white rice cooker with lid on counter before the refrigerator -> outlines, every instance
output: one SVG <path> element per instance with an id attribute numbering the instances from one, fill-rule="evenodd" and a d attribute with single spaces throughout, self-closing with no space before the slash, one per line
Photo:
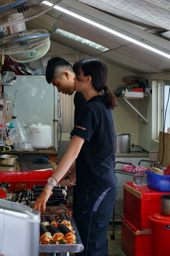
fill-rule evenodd
<path id="1" fill-rule="evenodd" d="M 52 145 L 52 131 L 50 125 L 37 125 L 28 126 L 30 142 L 33 148 L 50 148 Z"/>

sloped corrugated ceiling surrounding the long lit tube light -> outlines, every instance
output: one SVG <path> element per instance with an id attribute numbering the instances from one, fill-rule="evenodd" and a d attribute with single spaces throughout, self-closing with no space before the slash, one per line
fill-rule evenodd
<path id="1" fill-rule="evenodd" d="M 164 37 L 164 31 L 170 30 L 170 0 L 62 0 L 59 6 L 90 17 L 94 21 L 138 38 L 170 54 L 170 39 Z M 44 28 L 51 33 L 51 41 L 88 55 L 101 56 L 108 63 L 136 74 L 170 70 L 169 58 L 97 29 L 56 9 L 26 21 L 26 27 L 27 29 Z M 57 35 L 54 32 L 57 28 L 102 44 L 110 50 L 100 52 Z M 144 31 L 145 29 L 147 31 Z M 159 30 L 156 31 L 156 29 Z"/>

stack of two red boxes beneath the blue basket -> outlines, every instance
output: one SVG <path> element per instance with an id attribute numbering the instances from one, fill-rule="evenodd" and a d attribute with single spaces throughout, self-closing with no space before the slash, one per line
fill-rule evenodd
<path id="1" fill-rule="evenodd" d="M 124 183 L 121 242 L 122 250 L 127 256 L 157 256 L 152 254 L 148 217 L 155 212 L 161 212 L 160 196 L 165 194 L 170 195 L 170 192 L 156 191 L 147 185 L 135 185 L 133 182 Z"/>

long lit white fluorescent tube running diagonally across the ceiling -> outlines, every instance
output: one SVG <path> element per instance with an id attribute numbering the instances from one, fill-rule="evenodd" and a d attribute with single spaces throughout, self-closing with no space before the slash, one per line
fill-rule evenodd
<path id="1" fill-rule="evenodd" d="M 120 38 L 123 38 L 123 39 L 125 39 L 125 40 L 127 40 L 127 41 L 130 41 L 130 42 L 132 42 L 132 43 L 134 43 L 134 44 L 137 44 L 137 45 L 139 45 L 139 46 L 141 46 L 141 47 L 144 47 L 144 48 L 146 48 L 146 49 L 149 49 L 149 50 L 152 51 L 152 52 L 156 52 L 156 53 L 158 53 L 158 54 L 160 54 L 160 55 L 162 55 L 162 56 L 164 56 L 164 57 L 170 58 L 170 54 L 167 54 L 166 52 L 160 51 L 159 49 L 156 49 L 156 48 L 151 47 L 151 46 L 149 46 L 149 45 L 147 45 L 147 44 L 144 44 L 144 43 L 142 43 L 142 42 L 140 42 L 140 41 L 138 41 L 138 40 L 136 40 L 136 39 L 130 38 L 130 37 L 127 36 L 127 35 L 124 35 L 124 34 L 122 34 L 122 33 L 120 33 L 120 32 L 117 32 L 117 31 L 115 31 L 115 30 L 113 30 L 113 29 L 110 29 L 110 28 L 107 27 L 107 26 L 103 26 L 102 24 L 99 24 L 99 23 L 97 23 L 97 22 L 95 22 L 95 21 L 93 21 L 93 20 L 87 19 L 87 18 L 85 18 L 85 17 L 83 17 L 83 16 L 81 16 L 81 15 L 78 15 L 78 14 L 75 13 L 75 12 L 68 11 L 67 9 L 62 8 L 62 7 L 58 6 L 58 5 L 57 5 L 57 6 L 54 6 L 54 8 L 57 9 L 57 10 L 59 10 L 59 11 L 61 11 L 61 12 L 66 13 L 66 14 L 68 14 L 68 15 L 73 16 L 74 18 L 77 18 L 77 19 L 82 20 L 82 21 L 84 21 L 84 22 L 86 22 L 86 23 L 89 23 L 90 25 L 96 26 L 96 27 L 99 28 L 99 29 L 105 30 L 105 31 L 107 31 L 107 32 L 109 32 L 109 33 L 111 33 L 111 34 L 113 34 L 113 35 L 117 35 L 117 36 L 119 36 Z"/>

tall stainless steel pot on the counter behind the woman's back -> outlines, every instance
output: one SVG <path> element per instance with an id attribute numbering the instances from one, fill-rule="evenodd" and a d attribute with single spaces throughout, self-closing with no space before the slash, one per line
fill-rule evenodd
<path id="1" fill-rule="evenodd" d="M 132 134 L 115 134 L 114 150 L 115 153 L 130 153 L 130 136 Z"/>

